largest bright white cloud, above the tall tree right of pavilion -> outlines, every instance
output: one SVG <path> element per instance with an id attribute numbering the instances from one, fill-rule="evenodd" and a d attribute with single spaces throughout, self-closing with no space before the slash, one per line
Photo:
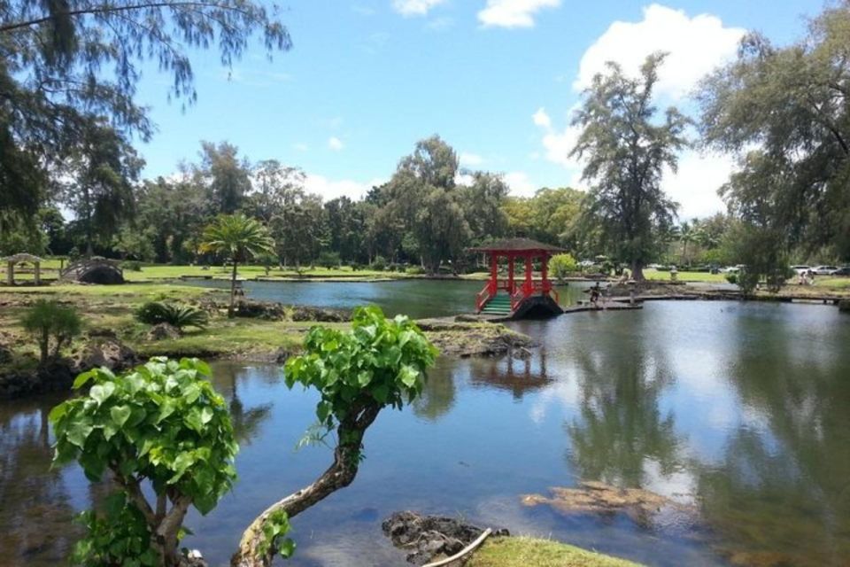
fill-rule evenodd
<path id="1" fill-rule="evenodd" d="M 644 19 L 615 21 L 599 36 L 584 52 L 573 87 L 590 86 L 593 75 L 604 72 L 607 61 L 616 61 L 626 73 L 637 74 L 647 55 L 666 51 L 669 55 L 659 71 L 656 92 L 682 98 L 715 66 L 735 56 L 745 34 L 746 29 L 724 27 L 723 21 L 711 14 L 689 18 L 683 10 L 651 4 L 644 8 Z"/>

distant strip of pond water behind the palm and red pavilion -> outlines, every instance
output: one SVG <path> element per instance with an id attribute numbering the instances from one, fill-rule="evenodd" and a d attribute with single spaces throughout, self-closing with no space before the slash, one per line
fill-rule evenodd
<path id="1" fill-rule="evenodd" d="M 189 280 L 187 285 L 230 289 L 224 280 Z M 586 299 L 584 290 L 591 282 L 559 285 L 561 305 L 574 305 Z M 277 301 L 287 305 L 336 307 L 350 309 L 376 304 L 388 315 L 404 313 L 411 317 L 440 317 L 469 313 L 475 310 L 475 294 L 484 282 L 464 280 L 397 280 L 392 282 L 243 282 L 245 294 L 251 299 Z"/>

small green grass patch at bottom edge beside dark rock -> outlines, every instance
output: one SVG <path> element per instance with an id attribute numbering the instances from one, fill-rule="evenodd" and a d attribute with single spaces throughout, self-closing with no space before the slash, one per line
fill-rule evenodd
<path id="1" fill-rule="evenodd" d="M 639 567 L 625 559 L 575 548 L 553 540 L 491 538 L 467 567 Z"/>

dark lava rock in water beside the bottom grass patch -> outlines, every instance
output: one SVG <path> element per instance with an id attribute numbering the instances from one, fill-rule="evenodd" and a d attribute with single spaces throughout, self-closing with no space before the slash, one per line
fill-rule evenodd
<path id="1" fill-rule="evenodd" d="M 381 528 L 393 545 L 409 551 L 407 562 L 414 565 L 430 563 L 439 555 L 454 555 L 484 531 L 450 517 L 420 516 L 410 511 L 396 512 L 383 521 Z M 510 534 L 498 530 L 493 535 Z"/>

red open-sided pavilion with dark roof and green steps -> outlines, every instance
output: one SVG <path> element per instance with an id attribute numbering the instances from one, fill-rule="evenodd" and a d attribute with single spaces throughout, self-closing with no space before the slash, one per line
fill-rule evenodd
<path id="1" fill-rule="evenodd" d="M 560 315 L 558 292 L 549 281 L 549 259 L 563 252 L 558 246 L 545 245 L 530 238 L 507 238 L 470 248 L 490 257 L 490 280 L 475 298 L 475 312 L 502 315 L 511 319 L 530 316 Z M 507 260 L 507 277 L 499 277 L 499 260 Z M 515 274 L 516 260 L 522 260 L 522 279 Z M 540 262 L 540 279 L 534 278 L 534 262 Z"/>

